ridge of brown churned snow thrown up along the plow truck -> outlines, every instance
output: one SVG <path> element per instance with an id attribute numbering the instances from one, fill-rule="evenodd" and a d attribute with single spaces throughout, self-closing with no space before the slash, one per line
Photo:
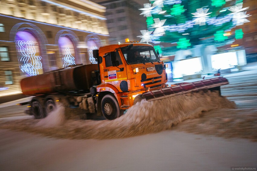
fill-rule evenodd
<path id="1" fill-rule="evenodd" d="M 45 119 L 1 121 L 0 128 L 58 138 L 125 138 L 168 130 L 186 119 L 198 118 L 204 111 L 221 108 L 232 109 L 236 105 L 218 92 L 200 91 L 150 102 L 142 100 L 115 120 L 65 120 L 63 107 L 59 106 Z"/>

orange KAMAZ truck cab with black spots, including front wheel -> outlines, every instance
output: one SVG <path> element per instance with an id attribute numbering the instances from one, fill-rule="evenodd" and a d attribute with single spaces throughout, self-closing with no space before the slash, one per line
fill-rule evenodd
<path id="1" fill-rule="evenodd" d="M 165 66 L 151 44 L 104 46 L 94 56 L 101 79 L 96 87 L 98 100 L 101 100 L 97 108 L 107 119 L 122 115 L 139 94 L 167 86 Z M 113 110 L 115 107 L 117 109 Z"/>

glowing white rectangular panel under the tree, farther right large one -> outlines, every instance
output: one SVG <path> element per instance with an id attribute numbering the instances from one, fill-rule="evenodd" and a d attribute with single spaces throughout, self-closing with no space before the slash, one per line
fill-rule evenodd
<path id="1" fill-rule="evenodd" d="M 236 52 L 211 55 L 213 70 L 234 68 L 238 65 Z"/>

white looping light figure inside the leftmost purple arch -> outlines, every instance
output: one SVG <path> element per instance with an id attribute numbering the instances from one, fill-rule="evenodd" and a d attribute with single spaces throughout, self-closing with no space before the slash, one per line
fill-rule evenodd
<path id="1" fill-rule="evenodd" d="M 23 64 L 20 66 L 22 72 L 26 72 L 30 76 L 38 75 L 38 69 L 42 69 L 41 56 L 35 56 L 36 49 L 34 48 L 33 41 L 18 40 L 16 42 L 18 52 L 21 55 L 20 62 Z"/>

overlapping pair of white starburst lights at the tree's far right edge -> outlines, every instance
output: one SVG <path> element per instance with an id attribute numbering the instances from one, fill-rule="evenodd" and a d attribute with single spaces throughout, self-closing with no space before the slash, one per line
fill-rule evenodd
<path id="1" fill-rule="evenodd" d="M 248 23 L 250 22 L 249 20 L 246 19 L 246 17 L 249 17 L 251 15 L 246 14 L 246 9 L 248 9 L 249 7 L 243 8 L 243 3 L 237 3 L 235 6 L 231 6 L 229 7 L 229 11 L 231 11 L 231 14 L 228 15 L 232 15 L 233 16 L 233 24 L 236 26 L 239 25 L 243 25 L 244 23 Z"/>

